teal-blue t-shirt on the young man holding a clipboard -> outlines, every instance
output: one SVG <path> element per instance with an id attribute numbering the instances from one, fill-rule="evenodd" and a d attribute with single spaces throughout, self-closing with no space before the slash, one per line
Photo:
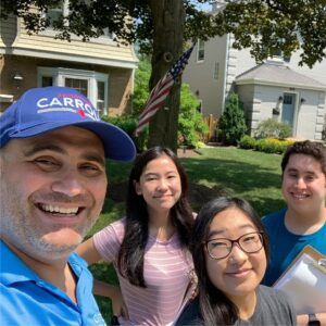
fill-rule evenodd
<path id="1" fill-rule="evenodd" d="M 294 235 L 285 226 L 286 212 L 283 209 L 262 218 L 271 244 L 271 259 L 262 280 L 266 286 L 273 286 L 305 246 L 326 254 L 326 223 L 314 234 Z"/>

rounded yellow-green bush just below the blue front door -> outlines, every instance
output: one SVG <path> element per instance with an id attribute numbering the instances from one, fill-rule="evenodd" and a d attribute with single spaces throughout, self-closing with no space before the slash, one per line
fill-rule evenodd
<path id="1" fill-rule="evenodd" d="M 292 128 L 288 123 L 278 122 L 269 117 L 259 123 L 254 136 L 256 138 L 285 139 L 292 135 Z"/>

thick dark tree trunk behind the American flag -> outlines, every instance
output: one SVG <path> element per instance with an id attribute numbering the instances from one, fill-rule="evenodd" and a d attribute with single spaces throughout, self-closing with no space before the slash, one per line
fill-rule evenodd
<path id="1" fill-rule="evenodd" d="M 185 9 L 183 0 L 149 0 L 153 18 L 153 54 L 150 90 L 183 52 Z M 180 83 L 175 83 L 165 103 L 151 118 L 148 147 L 177 150 Z"/>

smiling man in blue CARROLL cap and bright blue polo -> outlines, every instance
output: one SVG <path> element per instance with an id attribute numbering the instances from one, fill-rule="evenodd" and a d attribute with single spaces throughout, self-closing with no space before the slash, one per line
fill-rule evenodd
<path id="1" fill-rule="evenodd" d="M 0 126 L 0 325 L 103 325 L 72 252 L 102 209 L 105 158 L 133 160 L 131 139 L 64 87 L 26 91 Z"/>

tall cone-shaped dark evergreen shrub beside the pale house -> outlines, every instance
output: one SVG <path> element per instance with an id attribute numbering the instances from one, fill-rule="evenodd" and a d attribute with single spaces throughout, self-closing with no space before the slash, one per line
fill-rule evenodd
<path id="1" fill-rule="evenodd" d="M 218 121 L 217 135 L 225 145 L 237 145 L 247 131 L 242 104 L 236 93 L 231 93 Z"/>

